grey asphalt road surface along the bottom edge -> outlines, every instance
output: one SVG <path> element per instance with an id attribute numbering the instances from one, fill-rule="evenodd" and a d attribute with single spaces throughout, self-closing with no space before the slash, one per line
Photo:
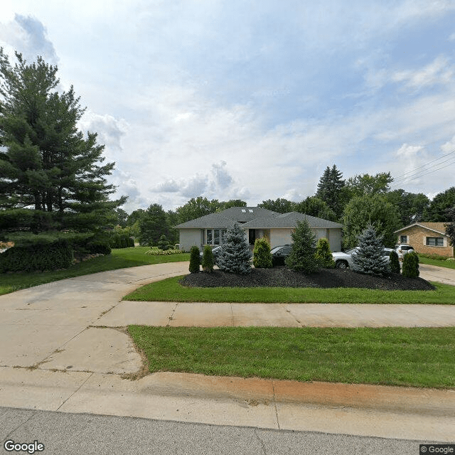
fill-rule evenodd
<path id="1" fill-rule="evenodd" d="M 419 454 L 424 441 L 288 432 L 163 420 L 68 414 L 0 407 L 1 450 L 5 441 L 44 444 L 36 454 L 292 455 Z M 428 443 L 428 441 L 426 441 Z"/>

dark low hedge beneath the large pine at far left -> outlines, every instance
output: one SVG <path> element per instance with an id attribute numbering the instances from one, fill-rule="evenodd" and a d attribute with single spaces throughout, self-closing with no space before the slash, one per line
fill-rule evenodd
<path id="1" fill-rule="evenodd" d="M 67 240 L 41 239 L 28 245 L 17 245 L 0 255 L 0 273 L 35 272 L 66 269 L 73 262 L 73 249 Z"/>

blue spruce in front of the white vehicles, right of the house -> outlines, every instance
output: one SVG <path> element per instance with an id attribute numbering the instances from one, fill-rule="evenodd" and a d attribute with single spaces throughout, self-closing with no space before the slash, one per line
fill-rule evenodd
<path id="1" fill-rule="evenodd" d="M 358 245 L 357 252 L 352 255 L 355 272 L 378 276 L 390 274 L 390 264 L 382 255 L 382 236 L 376 234 L 373 225 L 368 225 L 358 236 Z"/>

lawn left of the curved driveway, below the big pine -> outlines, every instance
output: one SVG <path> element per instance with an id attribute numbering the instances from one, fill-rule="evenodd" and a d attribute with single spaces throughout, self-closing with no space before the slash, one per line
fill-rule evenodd
<path id="1" fill-rule="evenodd" d="M 149 247 L 112 250 L 111 255 L 95 257 L 95 259 L 90 261 L 80 262 L 80 264 L 75 264 L 68 269 L 55 272 L 0 274 L 0 295 L 26 287 L 37 286 L 38 284 L 55 282 L 59 279 L 80 277 L 81 275 L 105 272 L 106 270 L 124 269 L 125 267 L 136 267 L 146 264 L 161 264 L 163 262 L 188 261 L 190 259 L 188 253 L 168 256 L 144 255 L 147 250 L 149 250 Z"/>

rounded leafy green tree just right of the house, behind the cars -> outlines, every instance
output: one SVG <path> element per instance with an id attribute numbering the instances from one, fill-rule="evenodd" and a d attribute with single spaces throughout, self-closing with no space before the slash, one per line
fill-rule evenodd
<path id="1" fill-rule="evenodd" d="M 346 249 L 357 246 L 358 236 L 368 225 L 373 225 L 383 237 L 386 247 L 396 242 L 394 233 L 400 227 L 397 209 L 384 196 L 355 196 L 343 212 L 343 245 Z"/>

